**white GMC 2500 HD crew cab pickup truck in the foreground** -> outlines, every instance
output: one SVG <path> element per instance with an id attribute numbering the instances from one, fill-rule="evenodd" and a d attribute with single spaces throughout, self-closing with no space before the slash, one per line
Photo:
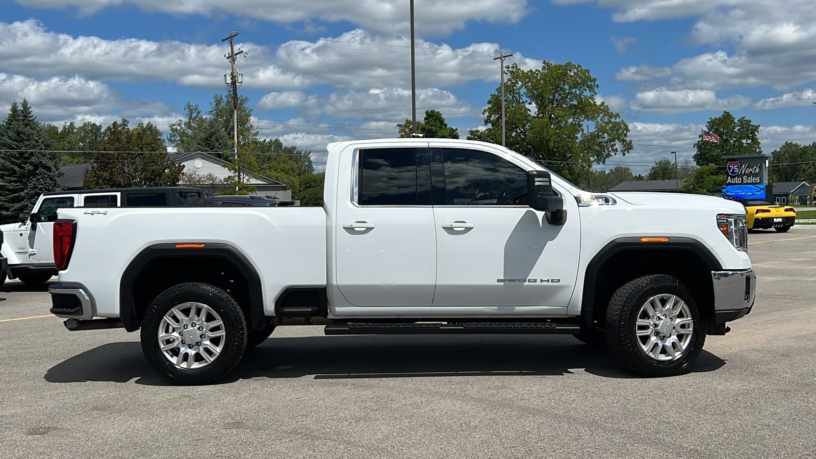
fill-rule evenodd
<path id="1" fill-rule="evenodd" d="M 468 140 L 328 152 L 322 207 L 60 208 L 51 312 L 70 330 L 141 328 L 157 372 L 205 384 L 294 324 L 566 333 L 669 376 L 752 308 L 738 203 L 589 194 Z"/>

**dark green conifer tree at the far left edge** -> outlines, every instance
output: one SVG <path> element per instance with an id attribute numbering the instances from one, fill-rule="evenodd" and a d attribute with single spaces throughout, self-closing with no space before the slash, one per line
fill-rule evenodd
<path id="1" fill-rule="evenodd" d="M 23 99 L 0 124 L 0 221 L 16 221 L 40 194 L 61 189 L 60 156 Z"/>

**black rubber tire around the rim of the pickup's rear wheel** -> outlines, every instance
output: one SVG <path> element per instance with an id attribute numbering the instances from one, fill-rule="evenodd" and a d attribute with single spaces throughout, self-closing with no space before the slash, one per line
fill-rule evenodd
<path id="1" fill-rule="evenodd" d="M 209 306 L 224 323 L 225 342 L 220 354 L 206 367 L 186 369 L 171 363 L 158 343 L 162 319 L 176 305 L 197 302 Z M 241 361 L 246 351 L 246 321 L 241 307 L 227 292 L 206 283 L 182 283 L 157 296 L 141 323 L 144 357 L 162 377 L 174 384 L 212 384 L 226 376 Z"/>

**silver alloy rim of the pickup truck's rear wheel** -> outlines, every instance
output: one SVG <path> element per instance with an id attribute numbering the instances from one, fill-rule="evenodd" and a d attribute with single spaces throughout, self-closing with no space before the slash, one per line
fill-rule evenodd
<path id="1" fill-rule="evenodd" d="M 194 370 L 218 358 L 226 343 L 224 322 L 210 306 L 188 302 L 167 311 L 158 328 L 158 345 L 177 368 Z"/>

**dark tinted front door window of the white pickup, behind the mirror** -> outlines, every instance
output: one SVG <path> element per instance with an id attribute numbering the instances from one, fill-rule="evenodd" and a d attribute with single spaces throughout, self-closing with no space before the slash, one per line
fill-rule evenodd
<path id="1" fill-rule="evenodd" d="M 448 205 L 527 203 L 527 172 L 503 158 L 475 149 L 442 149 L 442 163 Z"/>

